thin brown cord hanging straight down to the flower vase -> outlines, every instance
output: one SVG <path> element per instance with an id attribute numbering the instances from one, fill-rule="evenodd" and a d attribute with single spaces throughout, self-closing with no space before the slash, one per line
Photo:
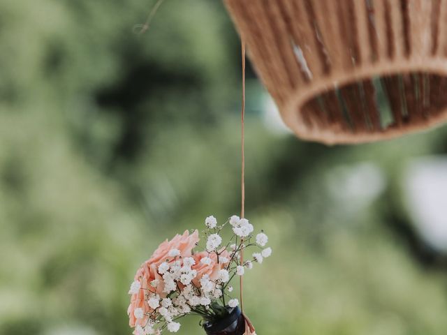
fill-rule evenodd
<path id="1" fill-rule="evenodd" d="M 242 158 L 242 166 L 241 166 L 241 209 L 240 216 L 244 218 L 245 215 L 245 154 L 244 154 L 244 116 L 245 116 L 245 42 L 242 39 L 242 108 L 241 108 L 241 158 Z M 244 239 L 242 238 L 241 244 L 244 243 Z M 244 248 L 240 251 L 240 264 L 244 266 Z M 243 276 L 240 276 L 240 309 L 244 311 L 244 297 L 243 297 Z"/>

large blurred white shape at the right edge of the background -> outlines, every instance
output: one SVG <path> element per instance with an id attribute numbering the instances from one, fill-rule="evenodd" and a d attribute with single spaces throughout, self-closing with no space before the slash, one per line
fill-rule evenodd
<path id="1" fill-rule="evenodd" d="M 447 158 L 412 161 L 404 175 L 409 213 L 433 248 L 447 251 Z"/>

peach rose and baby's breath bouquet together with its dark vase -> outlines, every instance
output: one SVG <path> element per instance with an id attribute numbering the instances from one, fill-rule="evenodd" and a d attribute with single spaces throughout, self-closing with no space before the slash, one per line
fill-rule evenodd
<path id="1" fill-rule="evenodd" d="M 255 334 L 239 301 L 231 297 L 231 282 L 271 255 L 272 249 L 265 248 L 268 237 L 263 232 L 254 237 L 253 225 L 238 216 L 231 216 L 223 225 L 209 216 L 205 225 L 204 251 L 194 250 L 198 247 L 198 231 L 186 231 L 160 244 L 138 269 L 129 290 L 131 304 L 127 311 L 134 335 L 160 335 L 165 329 L 177 332 L 177 320 L 186 315 L 202 318 L 208 335 Z M 228 225 L 232 236 L 223 243 L 221 232 Z M 258 250 L 243 260 L 249 248 Z"/>

